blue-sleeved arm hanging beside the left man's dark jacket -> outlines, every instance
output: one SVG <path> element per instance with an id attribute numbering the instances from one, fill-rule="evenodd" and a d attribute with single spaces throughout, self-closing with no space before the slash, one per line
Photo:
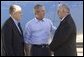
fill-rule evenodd
<path id="1" fill-rule="evenodd" d="M 24 31 L 24 52 L 25 56 L 30 56 L 30 39 L 31 36 L 31 30 L 29 28 L 29 25 L 26 24 L 25 31 Z"/>

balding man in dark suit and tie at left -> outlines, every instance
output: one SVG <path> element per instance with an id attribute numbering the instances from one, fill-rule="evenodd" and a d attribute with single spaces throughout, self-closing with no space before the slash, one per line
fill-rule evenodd
<path id="1" fill-rule="evenodd" d="M 9 9 L 10 18 L 4 23 L 1 31 L 2 56 L 23 56 L 24 40 L 19 23 L 21 7 L 12 5 Z"/>

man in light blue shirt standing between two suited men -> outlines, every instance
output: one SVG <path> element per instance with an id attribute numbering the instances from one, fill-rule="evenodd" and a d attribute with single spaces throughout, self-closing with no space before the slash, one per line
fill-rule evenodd
<path id="1" fill-rule="evenodd" d="M 49 19 L 44 18 L 44 6 L 37 4 L 34 10 L 36 18 L 25 26 L 25 43 L 31 45 L 31 56 L 51 56 L 48 45 L 52 40 L 51 33 L 55 31 L 55 27 Z"/>

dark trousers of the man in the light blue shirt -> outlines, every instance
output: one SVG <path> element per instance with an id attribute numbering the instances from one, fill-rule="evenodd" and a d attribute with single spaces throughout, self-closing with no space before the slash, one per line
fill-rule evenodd
<path id="1" fill-rule="evenodd" d="M 48 46 L 32 45 L 31 56 L 51 56 Z"/>

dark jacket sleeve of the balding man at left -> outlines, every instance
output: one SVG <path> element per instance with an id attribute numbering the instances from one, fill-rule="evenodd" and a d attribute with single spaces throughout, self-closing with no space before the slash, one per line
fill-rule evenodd
<path id="1" fill-rule="evenodd" d="M 14 56 L 14 51 L 12 48 L 12 29 L 11 27 L 5 25 L 2 28 L 2 35 L 4 41 L 4 48 L 8 56 Z"/>

